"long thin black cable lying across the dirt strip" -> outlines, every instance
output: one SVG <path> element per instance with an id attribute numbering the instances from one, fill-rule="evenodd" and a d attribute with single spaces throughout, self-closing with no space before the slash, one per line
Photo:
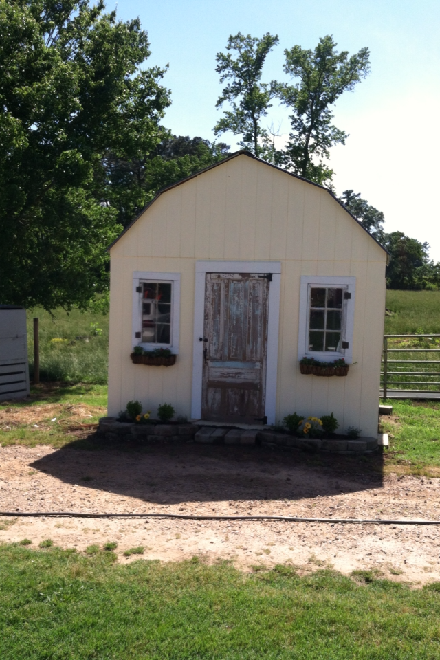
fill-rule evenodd
<path id="1" fill-rule="evenodd" d="M 181 520 L 278 520 L 278 522 L 340 522 L 346 525 L 440 525 L 440 520 L 362 520 L 358 518 L 294 518 L 293 516 L 189 516 L 187 514 L 83 514 L 72 511 L 0 511 L 10 518 L 178 518 Z"/>

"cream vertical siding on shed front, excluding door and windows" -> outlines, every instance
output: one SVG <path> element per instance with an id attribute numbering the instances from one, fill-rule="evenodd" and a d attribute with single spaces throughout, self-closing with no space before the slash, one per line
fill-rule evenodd
<path id="1" fill-rule="evenodd" d="M 386 252 L 325 189 L 238 155 L 166 190 L 111 248 L 109 415 L 139 399 L 190 417 L 195 262 L 281 262 L 276 420 L 333 412 L 341 430 L 377 434 Z M 133 272 L 181 273 L 175 366 L 131 363 Z M 301 375 L 300 276 L 355 276 L 353 366 L 347 377 Z"/>

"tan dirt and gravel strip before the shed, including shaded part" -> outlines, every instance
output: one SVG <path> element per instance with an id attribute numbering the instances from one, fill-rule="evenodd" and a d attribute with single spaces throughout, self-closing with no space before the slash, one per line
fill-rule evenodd
<path id="1" fill-rule="evenodd" d="M 243 570 L 288 562 L 305 570 L 373 569 L 413 584 L 440 580 L 440 526 L 270 521 L 23 518 L 23 511 L 274 514 L 440 520 L 440 480 L 362 472 L 319 454 L 263 448 L 156 445 L 139 450 L 0 448 L 0 542 L 51 538 L 85 550 L 118 542 L 143 558 L 233 560 Z"/>

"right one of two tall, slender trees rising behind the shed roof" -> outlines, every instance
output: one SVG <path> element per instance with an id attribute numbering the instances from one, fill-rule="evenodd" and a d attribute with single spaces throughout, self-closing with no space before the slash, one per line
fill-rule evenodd
<path id="1" fill-rule="evenodd" d="M 284 70 L 298 83 L 280 86 L 280 98 L 292 114 L 292 132 L 278 162 L 296 174 L 331 184 L 333 170 L 328 159 L 334 144 L 345 144 L 347 133 L 334 126 L 331 107 L 344 91 L 351 91 L 370 70 L 369 49 L 362 48 L 349 57 L 348 51 L 338 52 L 332 36 L 319 40 L 315 50 L 296 45 L 285 50 Z"/>

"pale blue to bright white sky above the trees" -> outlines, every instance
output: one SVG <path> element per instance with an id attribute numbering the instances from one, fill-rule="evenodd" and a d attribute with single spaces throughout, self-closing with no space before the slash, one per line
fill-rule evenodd
<path id="1" fill-rule="evenodd" d="M 314 49 L 326 34 L 350 55 L 369 47 L 371 74 L 334 107 L 333 122 L 349 137 L 331 150 L 333 184 L 338 194 L 360 192 L 384 212 L 387 232 L 428 242 L 430 258 L 440 261 L 439 0 L 107 0 L 107 9 L 115 6 L 120 19 L 138 16 L 148 32 L 145 66 L 169 65 L 164 85 L 173 103 L 164 125 L 211 141 L 221 117 L 215 56 L 230 34 L 278 34 L 263 82 L 289 80 L 284 50 Z M 289 133 L 287 115 L 275 103 L 267 117 L 281 140 Z M 236 151 L 239 137 L 217 140 Z"/>

